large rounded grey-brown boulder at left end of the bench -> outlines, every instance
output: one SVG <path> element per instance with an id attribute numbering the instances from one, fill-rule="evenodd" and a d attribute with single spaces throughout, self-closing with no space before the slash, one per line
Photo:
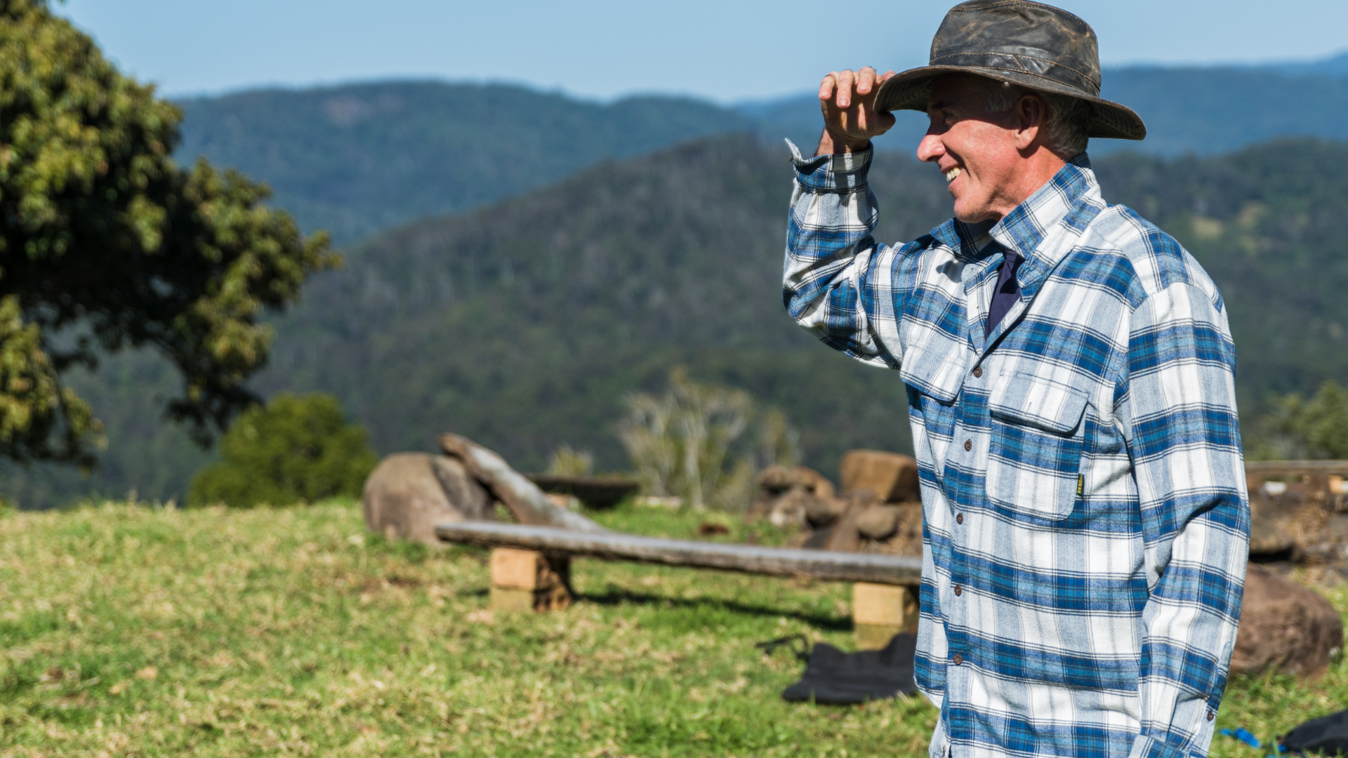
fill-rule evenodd
<path id="1" fill-rule="evenodd" d="M 492 498 L 449 456 L 394 453 L 379 463 L 361 498 L 365 526 L 390 540 L 439 545 L 435 525 L 495 521 Z"/>

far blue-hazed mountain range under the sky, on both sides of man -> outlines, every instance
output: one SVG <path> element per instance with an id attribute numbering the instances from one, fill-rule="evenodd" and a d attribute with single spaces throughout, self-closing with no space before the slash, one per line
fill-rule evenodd
<path id="1" fill-rule="evenodd" d="M 1103 140 L 1095 151 L 1215 154 L 1286 135 L 1348 139 L 1343 67 L 1335 58 L 1263 69 L 1109 69 L 1104 94 L 1142 113 L 1151 136 Z M 388 81 L 179 105 L 181 161 L 205 155 L 271 183 L 276 205 L 342 245 L 696 136 L 755 131 L 813 147 L 820 132 L 813 92 L 723 108 L 686 97 L 601 104 L 511 85 Z M 922 115 L 903 112 L 879 144 L 911 152 L 925 129 Z"/>

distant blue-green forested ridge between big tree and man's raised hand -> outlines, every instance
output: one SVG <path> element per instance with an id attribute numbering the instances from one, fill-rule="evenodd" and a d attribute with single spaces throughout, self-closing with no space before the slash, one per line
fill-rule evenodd
<path id="1" fill-rule="evenodd" d="M 751 128 L 685 97 L 611 104 L 512 85 L 388 81 L 181 100 L 177 155 L 268 182 L 338 244 L 706 134 Z"/>

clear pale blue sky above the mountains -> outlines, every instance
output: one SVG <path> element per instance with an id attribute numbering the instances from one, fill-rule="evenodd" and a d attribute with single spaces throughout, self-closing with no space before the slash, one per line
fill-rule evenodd
<path id="1" fill-rule="evenodd" d="M 926 62 L 950 3 L 783 0 L 69 0 L 57 12 L 167 94 L 391 77 L 524 82 L 589 97 L 718 101 L 807 90 L 833 67 Z M 1326 57 L 1344 0 L 1060 0 L 1105 65 Z"/>

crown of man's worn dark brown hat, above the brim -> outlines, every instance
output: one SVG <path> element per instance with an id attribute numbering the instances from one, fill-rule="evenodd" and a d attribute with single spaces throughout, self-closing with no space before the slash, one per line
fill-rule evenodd
<path id="1" fill-rule="evenodd" d="M 1027 0 L 969 0 L 946 12 L 931 39 L 933 66 L 1023 71 L 1100 94 L 1100 49 L 1091 24 Z"/>

